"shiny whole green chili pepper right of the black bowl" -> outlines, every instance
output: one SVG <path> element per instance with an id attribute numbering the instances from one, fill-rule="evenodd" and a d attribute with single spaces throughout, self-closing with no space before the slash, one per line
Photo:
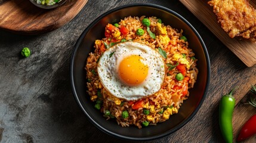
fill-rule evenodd
<path id="1" fill-rule="evenodd" d="M 232 116 L 235 107 L 235 98 L 232 94 L 234 90 L 235 88 L 233 88 L 229 94 L 224 95 L 221 98 L 219 105 L 220 130 L 224 141 L 227 143 L 233 142 Z"/>

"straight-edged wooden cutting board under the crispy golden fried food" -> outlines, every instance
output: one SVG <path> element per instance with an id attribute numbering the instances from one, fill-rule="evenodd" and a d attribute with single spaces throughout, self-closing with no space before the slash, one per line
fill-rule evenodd
<path id="1" fill-rule="evenodd" d="M 242 41 L 238 38 L 229 38 L 229 35 L 221 29 L 220 24 L 217 22 L 217 17 L 213 13 L 212 7 L 207 4 L 208 1 L 180 0 L 180 2 L 198 17 L 198 19 L 201 20 L 201 22 L 205 24 L 205 26 L 208 27 L 208 29 L 211 30 L 211 32 L 214 33 L 227 48 L 238 56 L 246 66 L 252 67 L 256 64 L 256 43 Z M 255 7 L 256 2 L 252 2 L 254 2 L 252 5 Z"/>

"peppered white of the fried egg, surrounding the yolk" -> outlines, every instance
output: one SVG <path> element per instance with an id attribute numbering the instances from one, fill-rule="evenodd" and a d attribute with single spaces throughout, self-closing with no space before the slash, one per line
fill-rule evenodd
<path id="1" fill-rule="evenodd" d="M 146 79 L 137 86 L 129 86 L 122 82 L 118 74 L 121 61 L 130 55 L 140 55 L 143 64 L 149 67 Z M 161 89 L 165 77 L 165 66 L 162 56 L 138 42 L 117 43 L 107 49 L 98 61 L 98 76 L 104 88 L 113 96 L 134 101 L 155 94 Z"/>

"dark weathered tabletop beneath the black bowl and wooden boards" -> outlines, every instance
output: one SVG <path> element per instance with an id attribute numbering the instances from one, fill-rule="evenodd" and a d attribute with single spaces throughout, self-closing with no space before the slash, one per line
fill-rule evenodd
<path id="1" fill-rule="evenodd" d="M 96 0 L 53 32 L 23 36 L 0 30 L 0 142 L 128 142 L 101 132 L 82 113 L 70 88 L 69 62 L 88 24 L 107 10 L 135 2 L 159 4 L 181 14 L 202 36 L 211 60 L 211 84 L 196 116 L 177 132 L 149 142 L 223 142 L 218 101 L 234 86 L 240 86 L 233 117 L 237 136 L 245 120 L 256 113 L 243 104 L 256 83 L 255 66 L 246 67 L 177 0 Z M 23 47 L 31 49 L 29 58 L 20 56 Z M 256 136 L 246 142 L 255 141 Z"/>

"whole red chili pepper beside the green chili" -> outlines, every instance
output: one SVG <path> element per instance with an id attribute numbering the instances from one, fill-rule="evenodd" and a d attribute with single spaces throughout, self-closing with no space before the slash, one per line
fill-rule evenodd
<path id="1" fill-rule="evenodd" d="M 256 134 L 256 114 L 243 125 L 236 141 L 240 142 Z"/>

